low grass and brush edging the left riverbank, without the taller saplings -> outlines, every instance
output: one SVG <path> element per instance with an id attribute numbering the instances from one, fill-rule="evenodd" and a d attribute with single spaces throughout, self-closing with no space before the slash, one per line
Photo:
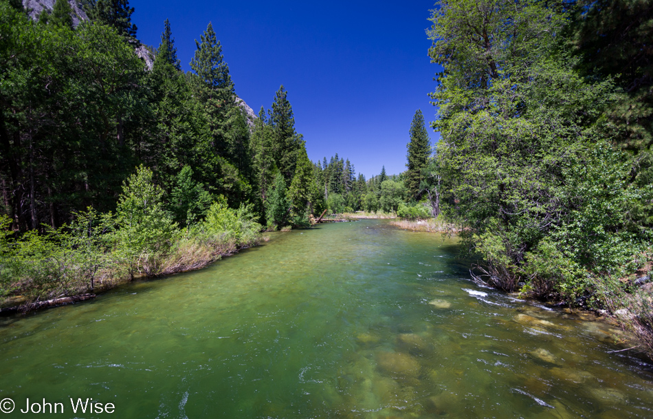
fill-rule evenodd
<path id="1" fill-rule="evenodd" d="M 232 215 L 230 228 L 203 222 L 175 230 L 165 250 L 129 247 L 118 232 L 83 237 L 90 246 L 79 246 L 80 237 L 63 229 L 5 241 L 0 255 L 0 308 L 20 305 L 28 311 L 40 301 L 104 292 L 135 278 L 197 270 L 258 244 L 260 226 L 239 219 L 236 211 Z"/>

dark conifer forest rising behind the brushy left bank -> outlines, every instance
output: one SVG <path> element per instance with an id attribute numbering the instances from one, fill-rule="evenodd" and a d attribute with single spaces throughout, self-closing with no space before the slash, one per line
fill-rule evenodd
<path id="1" fill-rule="evenodd" d="M 397 211 L 410 200 L 399 178 L 381 190 L 385 169 L 367 181 L 337 155 L 310 162 L 283 86 L 271 109 L 248 116 L 210 23 L 184 72 L 166 20 L 147 70 L 127 1 L 82 6 L 89 21 L 75 28 L 65 0 L 38 21 L 20 1 L 0 2 L 0 209 L 14 230 L 115 211 L 141 164 L 180 226 L 221 196 L 251 204 L 272 229 L 327 208 Z"/>

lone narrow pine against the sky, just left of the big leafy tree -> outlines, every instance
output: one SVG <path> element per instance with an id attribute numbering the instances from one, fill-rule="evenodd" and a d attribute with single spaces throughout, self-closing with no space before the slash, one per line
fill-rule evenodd
<path id="1" fill-rule="evenodd" d="M 410 197 L 419 200 L 422 192 L 419 184 L 423 180 L 423 170 L 428 164 L 428 158 L 431 154 L 431 146 L 428 140 L 428 132 L 424 124 L 424 116 L 422 111 L 417 109 L 415 116 L 410 123 L 410 142 L 406 145 L 408 147 L 408 163 L 406 167 L 406 189 Z"/>

